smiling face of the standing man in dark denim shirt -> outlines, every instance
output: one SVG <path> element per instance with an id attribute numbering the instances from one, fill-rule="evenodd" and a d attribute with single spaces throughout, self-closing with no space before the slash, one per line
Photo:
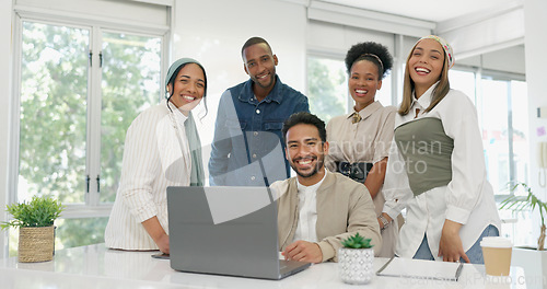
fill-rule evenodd
<path id="1" fill-rule="evenodd" d="M 277 57 L 265 43 L 252 45 L 243 50 L 245 72 L 251 77 L 255 86 L 270 91 L 276 84 Z"/>

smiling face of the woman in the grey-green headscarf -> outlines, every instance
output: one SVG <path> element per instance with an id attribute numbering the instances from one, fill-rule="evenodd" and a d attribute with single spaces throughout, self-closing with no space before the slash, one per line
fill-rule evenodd
<path id="1" fill-rule="evenodd" d="M 203 70 L 196 63 L 187 63 L 178 71 L 174 83 L 174 89 L 172 83 L 167 85 L 167 91 L 172 93 L 170 101 L 187 115 L 203 97 Z"/>

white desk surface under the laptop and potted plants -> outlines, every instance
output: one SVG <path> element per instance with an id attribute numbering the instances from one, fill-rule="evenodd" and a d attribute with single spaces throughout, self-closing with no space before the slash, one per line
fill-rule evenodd
<path id="1" fill-rule="evenodd" d="M 27 288 L 359 288 L 344 284 L 336 263 L 312 265 L 282 280 L 261 280 L 175 271 L 166 259 L 152 258 L 154 252 L 123 252 L 104 244 L 59 250 L 54 261 L 19 263 L 16 257 L 0 259 L 0 287 Z M 377 270 L 386 258 L 375 258 Z M 457 282 L 374 276 L 368 288 L 526 288 L 524 270 L 511 267 L 511 284 L 485 278 L 482 265 L 465 264 Z"/>

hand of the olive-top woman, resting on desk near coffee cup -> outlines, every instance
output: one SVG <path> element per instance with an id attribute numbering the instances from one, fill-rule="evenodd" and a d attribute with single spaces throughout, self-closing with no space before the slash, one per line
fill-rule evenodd
<path id="1" fill-rule="evenodd" d="M 461 228 L 462 224 L 458 222 L 444 221 L 441 242 L 439 243 L 439 256 L 443 256 L 444 262 L 459 262 L 459 258 L 463 258 L 465 262 L 470 263 L 459 238 Z"/>

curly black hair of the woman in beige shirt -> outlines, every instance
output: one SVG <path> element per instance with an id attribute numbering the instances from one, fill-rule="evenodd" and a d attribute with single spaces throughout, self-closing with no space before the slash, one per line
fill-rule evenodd
<path id="1" fill-rule="evenodd" d="M 379 80 L 385 78 L 393 66 L 393 57 L 387 47 L 375 42 L 358 43 L 351 46 L 346 54 L 345 62 L 346 68 L 348 69 L 348 74 L 350 73 L 353 63 L 363 59 L 376 65 L 380 78 Z"/>

